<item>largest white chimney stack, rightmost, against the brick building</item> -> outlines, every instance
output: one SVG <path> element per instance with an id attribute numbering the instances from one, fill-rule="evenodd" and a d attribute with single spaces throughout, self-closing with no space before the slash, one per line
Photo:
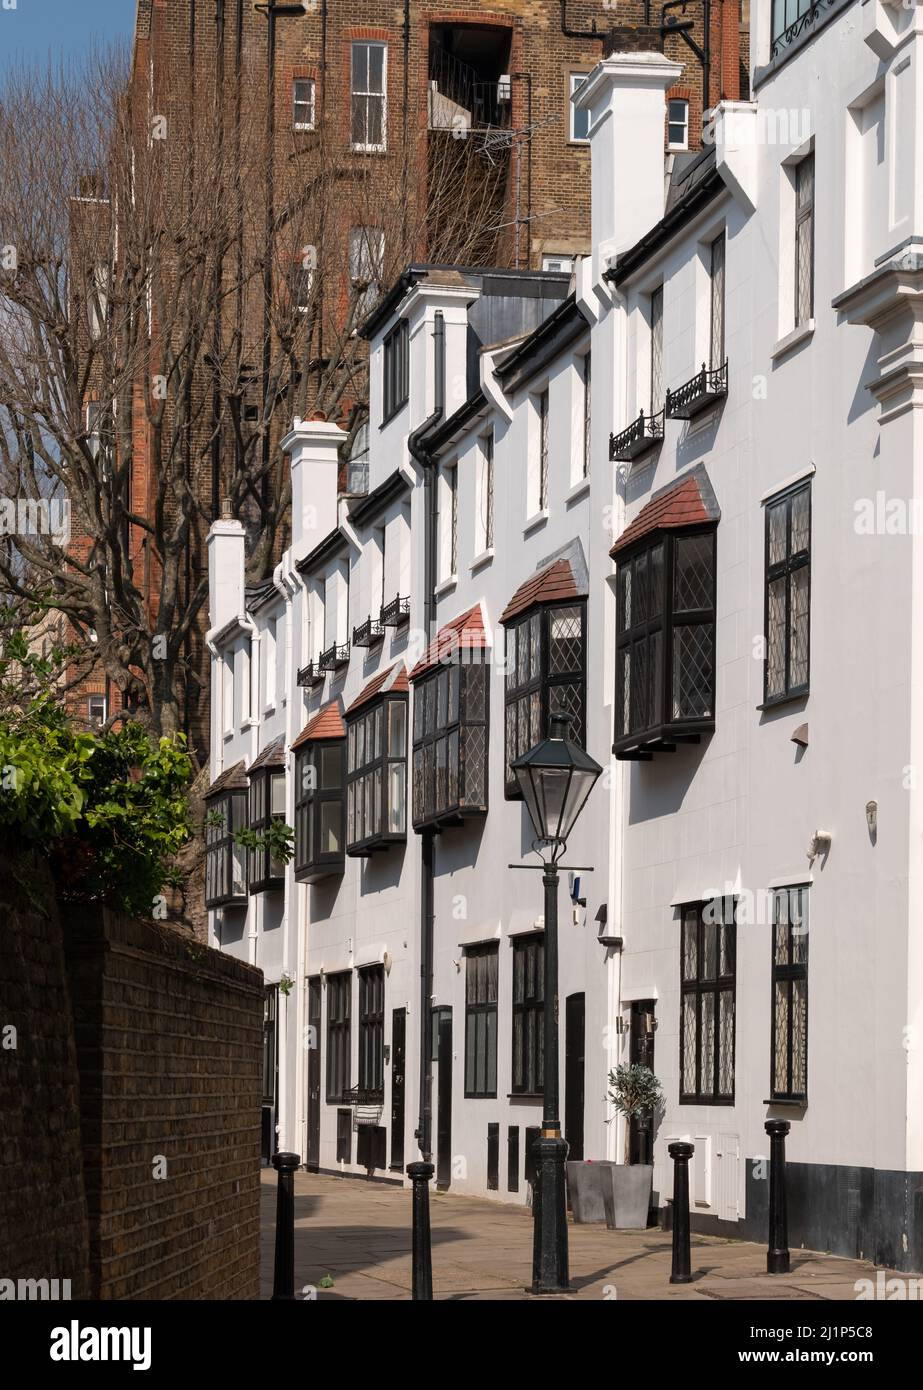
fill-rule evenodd
<path id="1" fill-rule="evenodd" d="M 589 111 L 595 281 L 663 217 L 666 93 L 681 74 L 662 53 L 613 53 L 574 93 Z"/>

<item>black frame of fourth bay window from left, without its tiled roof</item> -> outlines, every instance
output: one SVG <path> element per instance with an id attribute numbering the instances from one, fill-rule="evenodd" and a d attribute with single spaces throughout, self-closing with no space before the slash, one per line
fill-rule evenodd
<path id="1" fill-rule="evenodd" d="M 403 721 L 405 721 L 405 737 L 403 737 L 403 752 L 392 755 L 391 748 L 391 717 L 392 709 L 395 706 L 403 706 Z M 366 753 L 366 737 L 367 727 L 370 726 L 370 719 L 373 721 L 378 720 L 381 714 L 379 731 L 375 735 L 375 748 L 378 752 L 368 758 Z M 367 701 L 354 713 L 346 716 L 346 853 L 350 858 L 361 859 L 377 851 L 388 849 L 391 845 L 406 844 L 407 840 L 407 735 L 409 735 L 409 702 L 406 692 L 399 694 L 385 694 L 379 695 L 373 701 Z M 356 762 L 359 753 L 359 727 L 363 727 L 361 744 L 363 744 L 363 762 Z M 381 744 L 378 742 L 381 738 Z M 403 769 L 403 819 L 402 828 L 391 830 L 391 769 L 399 766 Z M 360 784 L 364 785 L 366 778 L 373 778 L 370 803 L 363 805 L 361 824 L 366 828 L 366 813 L 371 809 L 375 813 L 375 799 L 374 799 L 374 774 L 381 771 L 381 790 L 378 802 L 378 817 L 374 824 L 371 834 L 363 834 L 354 837 L 354 830 L 359 826 L 357 819 L 357 802 L 359 794 L 354 791 Z M 363 791 L 363 796 L 366 792 Z"/>

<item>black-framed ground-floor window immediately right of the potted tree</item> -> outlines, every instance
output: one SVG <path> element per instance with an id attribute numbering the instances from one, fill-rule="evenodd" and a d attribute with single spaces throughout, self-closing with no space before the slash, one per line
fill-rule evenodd
<path id="1" fill-rule="evenodd" d="M 695 974 L 687 973 L 687 930 L 689 917 L 695 929 Z M 727 919 L 731 919 L 730 922 Z M 712 959 L 714 973 L 706 973 L 706 933 L 714 931 Z M 726 934 L 724 952 L 721 934 Z M 730 970 L 721 970 L 721 962 L 730 960 Z M 731 1008 L 731 1065 L 730 1091 L 721 1091 L 721 997 L 730 995 Z M 696 1088 L 685 1087 L 685 1001 L 694 999 L 695 1009 L 695 1081 Z M 712 999 L 712 1086 L 702 1086 L 702 1020 L 706 1013 L 706 999 Z M 705 902 L 685 902 L 680 908 L 680 1105 L 734 1105 L 737 1087 L 737 899 L 714 898 Z"/>

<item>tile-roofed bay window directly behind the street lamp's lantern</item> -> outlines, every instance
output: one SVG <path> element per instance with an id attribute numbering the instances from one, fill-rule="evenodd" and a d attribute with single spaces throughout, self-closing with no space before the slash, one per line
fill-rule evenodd
<path id="1" fill-rule="evenodd" d="M 548 735 L 552 714 L 570 714 L 570 737 L 585 738 L 587 602 L 569 560 L 532 575 L 500 621 L 506 627 L 507 801 L 521 799 L 512 763 Z"/>

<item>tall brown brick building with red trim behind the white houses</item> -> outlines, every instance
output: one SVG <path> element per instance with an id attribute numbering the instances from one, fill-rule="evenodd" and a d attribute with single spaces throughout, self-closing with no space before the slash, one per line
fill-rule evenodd
<path id="1" fill-rule="evenodd" d="M 207 125 L 215 139 L 236 140 L 246 204 L 238 267 L 242 247 L 263 267 L 227 295 L 209 329 L 211 357 L 202 353 L 189 373 L 197 399 L 185 403 L 178 445 L 196 514 L 179 609 L 202 602 L 204 531 L 228 500 L 250 541 L 261 542 L 247 546 L 250 580 L 263 578 L 282 553 L 291 482 L 278 442 L 295 416 L 320 409 L 339 420 L 341 491 L 366 486 L 367 386 L 354 329 L 406 264 L 567 271 L 589 250 L 587 117 L 570 99 L 603 53 L 634 40 L 683 63 L 664 128 L 677 158 L 699 145 L 706 74 L 709 103 L 741 95 L 738 0 L 713 0 L 709 11 L 666 10 L 673 32 L 662 31 L 659 11 L 641 0 L 619 6 L 616 31 L 613 18 L 606 3 L 584 0 L 489 7 L 139 0 L 126 95 L 139 152 L 150 149 L 152 125 L 163 122 L 170 140 L 158 177 L 164 203 L 175 204 L 195 185 L 195 132 Z M 152 320 L 152 342 L 171 331 L 157 322 L 156 304 Z M 234 371 L 210 367 L 228 357 Z M 161 464 L 143 395 L 139 378 L 131 493 L 132 506 L 150 514 Z M 246 484 L 242 453 L 257 460 Z M 163 610 L 164 562 L 143 528 L 135 532 L 135 582 L 153 621 Z M 190 674 L 179 723 L 204 753 L 204 613 L 182 660 Z M 107 688 L 104 713 L 120 703 L 118 691 Z M 93 709 L 99 716 L 99 699 Z"/>

